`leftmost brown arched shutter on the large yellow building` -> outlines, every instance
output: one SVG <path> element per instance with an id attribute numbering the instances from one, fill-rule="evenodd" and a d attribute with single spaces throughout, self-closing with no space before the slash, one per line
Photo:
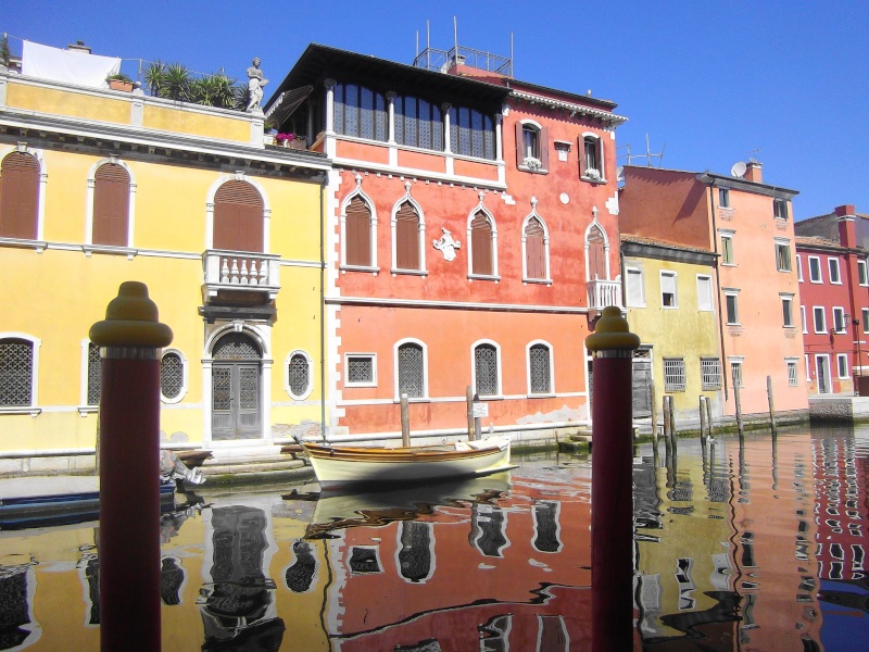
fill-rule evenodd
<path id="1" fill-rule="evenodd" d="M 39 162 L 12 152 L 0 166 L 0 236 L 35 240 L 39 221 Z"/>

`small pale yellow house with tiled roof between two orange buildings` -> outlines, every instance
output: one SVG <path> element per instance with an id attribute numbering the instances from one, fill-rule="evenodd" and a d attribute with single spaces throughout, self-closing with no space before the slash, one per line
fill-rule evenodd
<path id="1" fill-rule="evenodd" d="M 634 354 L 634 417 L 662 423 L 662 397 L 673 398 L 677 422 L 700 423 L 700 397 L 721 417 L 721 358 L 715 302 L 715 254 L 622 235 L 625 298 Z M 653 391 L 654 387 L 654 391 Z"/>

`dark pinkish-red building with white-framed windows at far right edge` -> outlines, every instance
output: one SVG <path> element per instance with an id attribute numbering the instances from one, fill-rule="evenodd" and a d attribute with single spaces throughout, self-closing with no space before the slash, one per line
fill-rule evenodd
<path id="1" fill-rule="evenodd" d="M 856 393 L 869 353 L 869 216 L 841 205 L 794 231 L 809 392 Z"/>

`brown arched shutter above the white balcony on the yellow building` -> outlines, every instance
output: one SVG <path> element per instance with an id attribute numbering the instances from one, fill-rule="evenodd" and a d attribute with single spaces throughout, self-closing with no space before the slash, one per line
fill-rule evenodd
<path id="1" fill-rule="evenodd" d="M 214 248 L 262 252 L 263 198 L 248 181 L 232 180 L 214 196 Z"/>

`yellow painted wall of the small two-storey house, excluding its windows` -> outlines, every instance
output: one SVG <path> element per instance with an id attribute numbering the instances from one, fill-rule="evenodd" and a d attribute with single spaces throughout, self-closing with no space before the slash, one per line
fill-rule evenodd
<path id="1" fill-rule="evenodd" d="M 685 391 L 672 392 L 677 418 L 697 418 L 701 394 L 720 404 L 720 391 L 703 391 L 701 356 L 719 358 L 718 323 L 715 311 L 697 308 L 697 275 L 710 276 L 715 301 L 715 276 L 711 267 L 693 263 L 660 261 L 651 258 L 626 256 L 625 267 L 643 271 L 645 308 L 628 306 L 628 323 L 643 344 L 652 344 L 652 368 L 656 408 L 662 413 L 664 391 L 664 359 L 683 358 Z M 664 308 L 660 297 L 660 272 L 676 272 L 678 308 Z M 717 310 L 717 305 L 715 306 Z M 722 369 L 725 368 L 722 361 Z M 713 415 L 720 415 L 720 408 Z"/>

